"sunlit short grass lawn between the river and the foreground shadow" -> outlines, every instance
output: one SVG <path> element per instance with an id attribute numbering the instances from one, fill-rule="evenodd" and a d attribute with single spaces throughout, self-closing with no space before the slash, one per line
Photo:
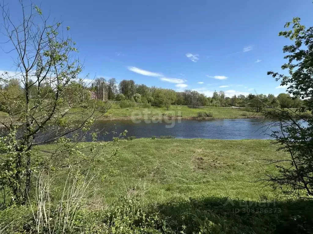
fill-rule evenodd
<path id="1" fill-rule="evenodd" d="M 95 182 L 109 203 L 127 194 L 148 203 L 202 195 L 251 201 L 277 198 L 271 188 L 251 182 L 264 173 L 258 158 L 285 156 L 267 140 L 142 138 L 118 144 L 116 172 L 112 175 L 103 168 L 108 177 Z M 110 150 L 105 148 L 98 156 L 106 158 Z"/>

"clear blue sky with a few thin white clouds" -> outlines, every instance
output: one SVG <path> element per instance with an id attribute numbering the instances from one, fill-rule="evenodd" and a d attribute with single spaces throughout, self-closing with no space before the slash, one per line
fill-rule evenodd
<path id="1" fill-rule="evenodd" d="M 290 44 L 278 32 L 295 16 L 313 23 L 311 0 L 33 2 L 70 26 L 84 75 L 209 96 L 284 92 L 266 75 L 280 71 L 282 47 Z M 12 6 L 11 16 L 18 10 Z M 11 57 L 0 51 L 0 70 L 14 71 Z"/>

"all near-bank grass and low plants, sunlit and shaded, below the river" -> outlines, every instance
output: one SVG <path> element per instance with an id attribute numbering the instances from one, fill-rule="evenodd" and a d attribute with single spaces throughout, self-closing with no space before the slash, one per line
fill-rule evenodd
<path id="1" fill-rule="evenodd" d="M 88 148 L 90 143 L 82 143 Z M 40 146 L 52 150 L 55 145 Z M 114 147 L 112 146 L 112 149 Z M 310 233 L 313 204 L 289 200 L 251 181 L 284 158 L 267 140 L 133 139 L 119 142 L 107 177 L 65 189 L 50 184 L 50 202 L 0 212 L 0 231 L 49 233 Z M 87 169 L 87 168 L 86 168 Z M 51 177 L 53 177 L 51 175 Z M 69 183 L 69 182 L 67 182 Z M 95 187 L 97 189 L 95 189 Z M 65 188 L 67 188 L 65 186 Z M 79 194 L 79 195 L 77 195 Z M 74 198 L 73 198 L 74 196 Z M 63 198 L 63 205 L 59 202 Z M 69 205 L 67 199 L 71 198 Z M 47 199 L 47 198 L 46 198 Z M 74 208 L 77 205 L 77 209 Z M 61 209 L 63 207 L 63 209 Z M 37 209 L 43 214 L 38 222 Z M 65 209 L 66 208 L 66 209 Z M 46 214 L 44 213 L 46 212 Z M 44 220 L 44 217 L 48 221 Z M 59 220 L 62 220 L 60 222 Z"/>

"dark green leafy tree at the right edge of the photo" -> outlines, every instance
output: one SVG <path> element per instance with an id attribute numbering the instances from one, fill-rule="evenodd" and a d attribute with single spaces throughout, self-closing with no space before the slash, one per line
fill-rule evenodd
<path id="1" fill-rule="evenodd" d="M 289 38 L 293 43 L 283 47 L 287 62 L 282 65 L 289 75 L 269 71 L 268 75 L 287 85 L 288 94 L 296 99 L 305 99 L 307 106 L 301 106 L 298 111 L 285 109 L 279 103 L 277 108 L 266 105 L 264 115 L 279 121 L 273 131 L 273 142 L 289 157 L 281 163 L 280 160 L 270 159 L 278 168 L 278 173 L 268 173 L 265 181 L 288 195 L 313 198 L 313 118 L 302 118 L 301 113 L 313 110 L 313 27 L 301 25 L 300 18 L 295 17 L 287 22 L 285 27 L 290 30 L 282 31 L 279 36 Z M 290 99 L 288 97 L 288 99 Z M 277 123 L 276 122 L 276 123 Z"/>

